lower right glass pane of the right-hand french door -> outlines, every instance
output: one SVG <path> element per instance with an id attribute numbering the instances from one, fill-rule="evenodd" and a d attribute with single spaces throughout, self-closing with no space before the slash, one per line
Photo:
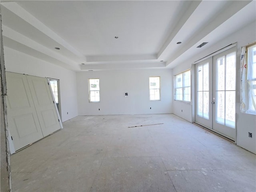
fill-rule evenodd
<path id="1" fill-rule="evenodd" d="M 235 128 L 236 91 L 226 91 L 226 126 Z"/>

